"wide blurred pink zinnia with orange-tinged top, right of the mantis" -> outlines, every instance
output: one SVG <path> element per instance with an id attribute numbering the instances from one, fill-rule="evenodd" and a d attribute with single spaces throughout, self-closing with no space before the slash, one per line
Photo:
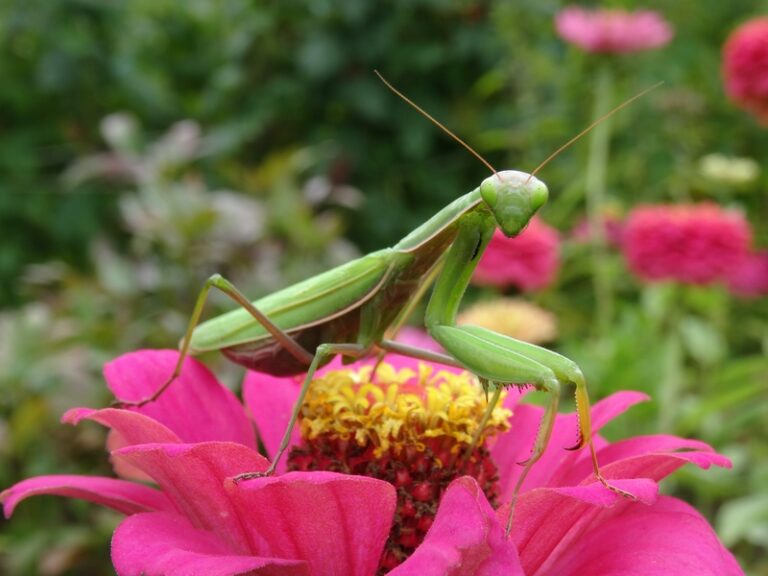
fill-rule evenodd
<path id="1" fill-rule="evenodd" d="M 708 284 L 741 265 L 751 238 L 741 214 L 716 204 L 641 206 L 627 220 L 622 248 L 643 280 Z"/>

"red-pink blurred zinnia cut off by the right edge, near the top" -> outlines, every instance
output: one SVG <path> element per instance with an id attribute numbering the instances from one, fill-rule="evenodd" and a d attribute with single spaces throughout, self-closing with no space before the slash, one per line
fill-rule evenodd
<path id="1" fill-rule="evenodd" d="M 723 76 L 731 100 L 768 123 L 768 18 L 750 20 L 730 35 Z"/>

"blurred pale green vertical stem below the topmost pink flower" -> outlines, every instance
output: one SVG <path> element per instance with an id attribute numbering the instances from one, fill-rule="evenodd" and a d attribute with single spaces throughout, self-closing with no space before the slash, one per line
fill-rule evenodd
<path id="1" fill-rule="evenodd" d="M 597 73 L 595 83 L 595 118 L 608 112 L 613 77 L 607 66 Z M 608 334 L 613 317 L 613 282 L 603 226 L 603 205 L 606 196 L 606 172 L 610 145 L 610 119 L 597 126 L 589 139 L 589 158 L 586 175 L 587 221 L 592 240 L 592 286 L 595 298 L 595 328 L 598 337 Z"/>

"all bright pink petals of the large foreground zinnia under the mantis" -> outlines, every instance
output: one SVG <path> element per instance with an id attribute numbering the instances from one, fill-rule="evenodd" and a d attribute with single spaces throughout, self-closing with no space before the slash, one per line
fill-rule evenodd
<path id="1" fill-rule="evenodd" d="M 118 398 L 143 397 L 164 381 L 177 357 L 175 351 L 127 354 L 107 365 L 107 383 Z M 326 377 L 335 376 L 326 372 Z M 246 405 L 270 451 L 297 393 L 292 378 L 255 373 L 246 378 Z M 394 401 L 390 396 L 387 406 Z M 518 404 L 519 398 L 513 392 L 505 400 L 506 408 L 514 409 L 513 431 L 497 436 L 489 448 L 502 501 L 520 474 L 516 462 L 530 453 L 541 418 L 540 408 Z M 644 398 L 626 392 L 598 402 L 592 411 L 595 429 Z M 365 416 L 340 416 L 351 420 L 355 414 Z M 693 440 L 648 436 L 609 444 L 596 437 L 603 473 L 640 500 L 630 502 L 593 481 L 589 454 L 562 450 L 572 443 L 576 422 L 572 414 L 559 416 L 549 449 L 523 485 L 507 539 L 506 506 L 494 511 L 481 489 L 490 477 L 457 478 L 442 498 L 424 482 L 409 487 L 416 468 L 399 468 L 394 485 L 320 470 L 232 482 L 239 473 L 265 470 L 267 461 L 255 451 L 245 409 L 194 359 L 158 401 L 138 410 L 78 408 L 64 416 L 73 424 L 83 419 L 110 428 L 112 460 L 127 479 L 43 476 L 6 490 L 2 501 L 7 516 L 37 494 L 83 498 L 122 512 L 126 518 L 112 541 L 120 576 L 372 576 L 381 573 L 388 534 L 407 537 L 398 527 L 422 515 L 425 506 L 437 508 L 432 520 L 421 516 L 418 523 L 426 536 L 390 574 L 742 574 L 694 509 L 657 496 L 655 482 L 687 462 L 729 466 Z M 313 452 L 312 442 L 295 439 L 299 459 Z M 363 456 L 358 453 L 358 460 Z M 404 456 L 418 459 L 413 452 Z M 339 466 L 359 465 L 330 459 Z M 154 486 L 132 478 L 149 478 Z M 395 515 L 403 489 L 420 499 Z"/>

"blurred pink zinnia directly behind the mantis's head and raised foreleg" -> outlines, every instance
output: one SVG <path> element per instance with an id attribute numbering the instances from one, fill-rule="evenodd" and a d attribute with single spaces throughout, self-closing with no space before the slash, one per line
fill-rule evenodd
<path id="1" fill-rule="evenodd" d="M 552 283 L 559 265 L 557 230 L 534 218 L 514 238 L 507 238 L 500 230 L 494 232 L 472 282 L 483 286 L 516 286 L 523 291 L 538 290 Z"/>

